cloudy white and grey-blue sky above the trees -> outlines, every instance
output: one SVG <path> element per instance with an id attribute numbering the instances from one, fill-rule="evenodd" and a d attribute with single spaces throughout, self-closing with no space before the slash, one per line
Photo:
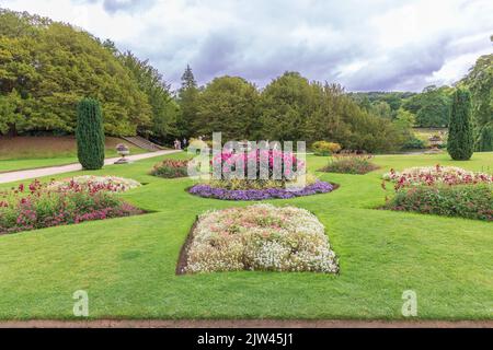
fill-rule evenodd
<path id="1" fill-rule="evenodd" d="M 349 91 L 450 84 L 493 51 L 491 0 L 0 0 L 149 58 L 173 88 L 286 70 Z"/>

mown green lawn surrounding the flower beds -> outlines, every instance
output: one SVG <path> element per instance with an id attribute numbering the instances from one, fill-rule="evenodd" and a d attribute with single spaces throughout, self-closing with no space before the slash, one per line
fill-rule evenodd
<path id="1" fill-rule="evenodd" d="M 123 196 L 152 213 L 0 236 L 0 318 L 71 318 L 72 293 L 85 290 L 95 318 L 399 319 L 410 289 L 420 318 L 493 318 L 492 223 L 374 209 L 383 202 L 379 176 L 390 167 L 440 163 L 491 172 L 493 153 L 470 162 L 446 154 L 377 156 L 382 168 L 364 176 L 318 173 L 341 185 L 332 194 L 272 200 L 318 215 L 340 257 L 340 276 L 175 276 L 195 215 L 248 202 L 191 196 L 188 179 L 147 175 L 158 161 L 94 172 L 148 183 Z M 310 156 L 309 167 L 325 162 Z"/>

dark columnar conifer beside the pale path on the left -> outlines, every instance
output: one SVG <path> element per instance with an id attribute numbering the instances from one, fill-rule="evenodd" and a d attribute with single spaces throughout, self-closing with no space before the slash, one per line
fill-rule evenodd
<path id="1" fill-rule="evenodd" d="M 104 130 L 101 105 L 93 98 L 82 98 L 77 107 L 77 156 L 85 170 L 99 170 L 104 164 Z"/>

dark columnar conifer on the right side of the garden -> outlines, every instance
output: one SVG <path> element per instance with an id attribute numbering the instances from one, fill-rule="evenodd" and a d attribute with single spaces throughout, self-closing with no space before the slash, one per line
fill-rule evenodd
<path id="1" fill-rule="evenodd" d="M 474 151 L 471 122 L 471 94 L 459 88 L 454 93 L 447 141 L 448 154 L 456 161 L 467 161 Z"/>

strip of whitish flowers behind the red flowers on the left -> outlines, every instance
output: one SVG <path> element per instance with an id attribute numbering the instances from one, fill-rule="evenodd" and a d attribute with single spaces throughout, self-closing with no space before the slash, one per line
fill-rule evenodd
<path id="1" fill-rule="evenodd" d="M 96 188 L 98 190 L 103 189 L 114 192 L 123 192 L 141 186 L 139 182 L 136 182 L 135 179 L 131 178 L 124 178 L 117 176 L 82 175 L 66 178 L 58 182 L 53 182 L 51 184 L 48 185 L 48 189 L 57 190 L 85 185 L 90 185 L 91 188 Z"/>

